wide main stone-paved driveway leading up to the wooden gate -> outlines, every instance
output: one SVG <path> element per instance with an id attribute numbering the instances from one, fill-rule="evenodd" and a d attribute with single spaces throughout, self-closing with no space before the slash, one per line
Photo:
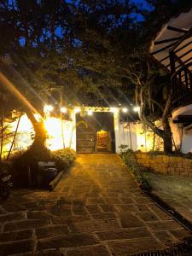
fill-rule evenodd
<path id="1" fill-rule="evenodd" d="M 123 256 L 186 236 L 115 154 L 79 155 L 55 192 L 15 190 L 0 206 L 1 256 Z"/>

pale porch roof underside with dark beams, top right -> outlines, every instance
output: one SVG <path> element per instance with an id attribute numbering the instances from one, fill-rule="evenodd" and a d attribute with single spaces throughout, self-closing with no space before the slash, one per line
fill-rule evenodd
<path id="1" fill-rule="evenodd" d="M 150 54 L 166 68 L 171 69 L 169 52 L 173 48 L 180 59 L 176 62 L 176 69 L 181 67 L 182 63 L 186 66 L 192 61 L 192 9 L 172 18 L 162 27 L 151 44 Z M 192 67 L 189 69 L 192 70 Z"/>

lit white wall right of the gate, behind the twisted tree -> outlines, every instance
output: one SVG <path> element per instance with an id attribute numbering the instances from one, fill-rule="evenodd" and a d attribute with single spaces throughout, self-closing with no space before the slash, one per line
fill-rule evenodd
<path id="1" fill-rule="evenodd" d="M 148 152 L 153 150 L 153 148 L 154 150 L 163 151 L 162 138 L 155 135 L 154 131 L 152 131 L 150 128 L 148 128 L 146 131 L 141 122 L 130 124 L 120 123 L 119 115 L 115 113 L 114 125 L 117 153 L 120 152 L 120 145 L 127 145 L 128 148 L 131 148 L 134 151 L 141 150 L 143 152 Z M 160 128 L 161 121 L 155 121 L 155 125 Z M 184 154 L 192 152 L 192 130 L 185 131 L 184 128 L 182 128 L 181 124 L 173 124 L 172 119 L 170 119 L 170 125 L 172 128 L 172 136 L 174 139 L 173 150 L 175 150 L 176 146 L 177 149 L 181 148 L 181 152 L 183 152 Z"/>

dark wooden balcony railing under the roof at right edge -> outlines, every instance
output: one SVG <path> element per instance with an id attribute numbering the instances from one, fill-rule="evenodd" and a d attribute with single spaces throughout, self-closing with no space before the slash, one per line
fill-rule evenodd
<path id="1" fill-rule="evenodd" d="M 192 62 L 177 70 L 172 75 L 173 109 L 192 104 Z"/>

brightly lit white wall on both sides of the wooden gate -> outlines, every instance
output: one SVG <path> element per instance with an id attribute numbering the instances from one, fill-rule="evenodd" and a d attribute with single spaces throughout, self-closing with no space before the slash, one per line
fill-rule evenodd
<path id="1" fill-rule="evenodd" d="M 141 150 L 142 152 L 148 152 L 151 150 L 163 150 L 163 140 L 155 135 L 154 131 L 149 128 L 146 129 L 141 122 L 120 123 L 119 111 L 113 111 L 113 114 L 115 147 L 117 153 L 120 152 L 120 145 L 127 145 L 128 148 L 131 148 L 133 151 Z M 48 131 L 46 145 L 50 150 L 56 150 L 61 148 L 73 148 L 74 150 L 76 150 L 75 115 L 75 111 L 71 111 L 70 120 L 61 120 L 59 118 L 47 116 L 44 124 Z M 9 132 L 12 132 L 12 136 L 9 137 L 9 140 L 7 140 L 6 143 L 4 142 L 4 155 L 9 152 L 17 122 L 18 119 L 16 119 L 13 123 L 4 124 L 8 125 Z M 155 122 L 155 125 L 160 128 L 161 121 L 157 120 Z M 172 120 L 170 120 L 170 125 L 172 127 L 172 134 L 176 147 L 180 148 L 181 137 L 183 135 L 183 143 L 181 146 L 182 152 L 192 152 L 192 131 L 183 130 L 182 133 L 180 125 L 172 124 Z M 18 150 L 25 150 L 26 148 L 28 148 L 32 144 L 32 134 L 34 135 L 32 124 L 27 118 L 26 114 L 24 114 L 20 118 L 20 125 L 15 138 L 13 152 L 16 152 Z"/>

